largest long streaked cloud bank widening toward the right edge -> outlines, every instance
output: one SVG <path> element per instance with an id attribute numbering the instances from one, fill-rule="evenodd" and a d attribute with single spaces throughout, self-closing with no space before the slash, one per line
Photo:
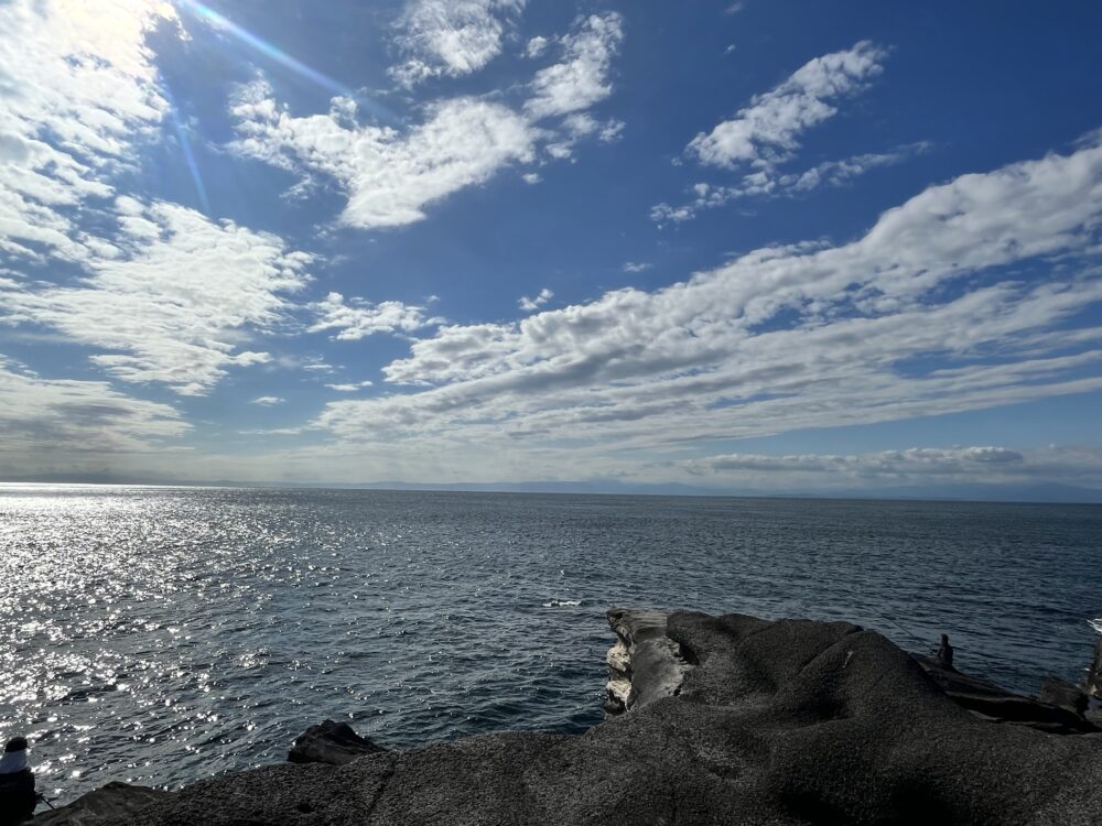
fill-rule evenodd
<path id="1" fill-rule="evenodd" d="M 759 249 L 515 324 L 442 326 L 383 369 L 421 390 L 333 402 L 314 424 L 359 441 L 656 449 L 1099 389 L 1102 328 L 1082 311 L 1102 302 L 1100 227 L 1093 135 L 932 186 L 847 243 Z M 933 355 L 943 367 L 922 369 Z"/>

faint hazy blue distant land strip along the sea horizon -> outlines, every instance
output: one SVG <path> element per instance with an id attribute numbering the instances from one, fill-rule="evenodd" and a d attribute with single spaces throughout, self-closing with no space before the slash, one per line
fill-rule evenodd
<path id="1" fill-rule="evenodd" d="M 1054 502 L 1069 504 L 1102 504 L 1102 489 L 1056 482 L 1030 485 L 910 485 L 876 488 L 839 488 L 773 490 L 765 488 L 707 488 L 679 482 L 639 483 L 618 479 L 586 481 L 520 481 L 520 482 L 328 482 L 279 481 L 253 482 L 234 479 L 182 480 L 150 476 L 128 476 L 110 471 L 84 474 L 40 474 L 9 477 L 9 483 L 46 485 L 166 485 L 184 487 L 227 488 L 332 488 L 341 490 L 437 490 L 496 493 L 603 493 L 619 496 L 689 496 L 689 497 L 754 497 L 809 499 L 922 499 L 979 502 Z"/>

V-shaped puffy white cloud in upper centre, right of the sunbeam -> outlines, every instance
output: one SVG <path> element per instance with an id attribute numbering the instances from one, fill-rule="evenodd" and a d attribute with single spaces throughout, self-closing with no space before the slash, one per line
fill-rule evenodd
<path id="1" fill-rule="evenodd" d="M 583 19 L 560 39 L 561 62 L 536 75 L 519 111 L 484 98 L 451 98 L 430 105 L 423 122 L 408 130 L 358 124 L 356 105 L 345 98 L 335 98 L 327 113 L 294 117 L 258 80 L 241 87 L 231 105 L 238 131 L 233 148 L 305 178 L 334 180 L 347 195 L 345 226 L 412 224 L 430 205 L 510 165 L 534 162 L 540 148 L 569 156 L 579 129 L 614 140 L 615 121 L 591 119 L 585 130 L 591 121 L 581 116 L 611 94 L 609 62 L 622 36 L 618 14 Z M 547 122 L 572 116 L 561 129 Z"/>

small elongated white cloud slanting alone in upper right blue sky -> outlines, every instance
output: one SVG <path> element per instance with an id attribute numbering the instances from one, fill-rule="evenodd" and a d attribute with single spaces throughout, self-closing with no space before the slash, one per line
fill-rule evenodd
<path id="1" fill-rule="evenodd" d="M 834 104 L 865 88 L 883 70 L 886 53 L 868 41 L 809 61 L 775 89 L 711 132 L 701 132 L 687 151 L 710 166 L 771 165 L 788 160 L 798 138 L 833 117 Z"/>

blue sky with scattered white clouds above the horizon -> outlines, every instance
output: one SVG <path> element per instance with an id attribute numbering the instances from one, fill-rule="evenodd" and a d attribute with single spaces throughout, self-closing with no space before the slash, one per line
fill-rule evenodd
<path id="1" fill-rule="evenodd" d="M 1100 36 L 0 0 L 0 480 L 1102 490 Z"/>

